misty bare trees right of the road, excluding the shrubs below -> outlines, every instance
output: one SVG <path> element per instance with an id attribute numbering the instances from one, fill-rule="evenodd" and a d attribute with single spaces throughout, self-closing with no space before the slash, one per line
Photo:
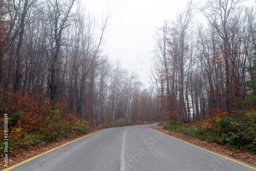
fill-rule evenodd
<path id="1" fill-rule="evenodd" d="M 235 110 L 251 109 L 243 101 L 255 96 L 255 84 L 250 91 L 245 87 L 255 72 L 247 72 L 255 60 L 255 6 L 243 2 L 190 1 L 157 30 L 151 78 L 164 117 L 182 123 L 218 110 L 235 116 Z M 196 22 L 196 12 L 206 23 Z"/>

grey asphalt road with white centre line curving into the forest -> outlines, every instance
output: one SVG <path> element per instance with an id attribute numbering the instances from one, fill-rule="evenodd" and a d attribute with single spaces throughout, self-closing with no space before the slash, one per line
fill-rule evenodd
<path id="1" fill-rule="evenodd" d="M 16 164 L 11 170 L 256 170 L 256 166 L 175 139 L 150 126 L 154 125 L 98 132 Z"/>

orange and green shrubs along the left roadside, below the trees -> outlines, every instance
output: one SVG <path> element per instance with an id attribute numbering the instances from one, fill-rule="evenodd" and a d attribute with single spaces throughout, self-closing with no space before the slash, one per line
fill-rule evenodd
<path id="1" fill-rule="evenodd" d="M 4 125 L 4 114 L 8 114 L 9 155 L 92 131 L 90 122 L 69 113 L 64 104 L 52 108 L 51 101 L 40 95 L 24 97 L 20 93 L 6 93 L 4 96 L 6 103 L 0 104 L 0 122 Z M 3 142 L 4 126 L 0 133 Z M 4 144 L 0 145 L 0 153 L 4 154 Z"/>

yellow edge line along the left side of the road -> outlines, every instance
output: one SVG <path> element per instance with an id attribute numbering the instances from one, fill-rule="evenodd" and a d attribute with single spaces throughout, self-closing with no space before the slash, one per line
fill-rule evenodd
<path id="1" fill-rule="evenodd" d="M 105 130 L 108 130 L 108 129 L 105 129 Z M 101 131 L 105 131 L 105 130 L 101 130 Z M 98 132 L 96 132 L 96 133 L 99 133 L 99 132 L 101 132 L 101 131 L 98 131 Z M 96 133 L 93 133 L 93 134 L 96 134 Z M 89 134 L 89 135 L 86 135 L 86 136 L 84 136 L 84 137 L 88 137 L 88 136 L 93 135 L 93 134 Z M 84 138 L 84 137 L 75 139 L 75 140 L 73 140 L 73 141 L 67 142 L 66 144 L 62 144 L 62 145 L 60 145 L 60 146 L 57 146 L 57 147 L 55 147 L 55 148 L 52 148 L 52 149 L 50 149 L 49 151 L 46 151 L 46 152 L 44 152 L 44 153 L 41 153 L 41 154 L 36 155 L 36 156 L 34 156 L 34 157 L 31 157 L 31 158 L 29 158 L 29 159 L 27 159 L 27 160 L 24 160 L 24 161 L 22 161 L 22 162 L 19 162 L 19 163 L 17 163 L 17 164 L 14 164 L 13 166 L 7 167 L 6 169 L 3 169 L 3 171 L 4 171 L 4 170 L 7 171 L 7 170 L 10 170 L 10 169 L 13 169 L 13 168 L 15 168 L 15 167 L 17 167 L 17 166 L 20 166 L 20 165 L 22 165 L 22 164 L 24 164 L 24 163 L 27 163 L 27 162 L 29 162 L 29 161 L 31 161 L 31 160 L 37 158 L 37 157 L 40 157 L 40 156 L 42 156 L 42 155 L 45 155 L 45 154 L 47 154 L 47 153 L 49 153 L 49 152 L 54 151 L 54 150 L 57 149 L 57 148 L 60 148 L 60 147 L 65 146 L 65 145 L 67 145 L 67 144 L 70 144 L 71 142 L 77 141 L 77 140 L 82 139 L 82 138 Z"/>

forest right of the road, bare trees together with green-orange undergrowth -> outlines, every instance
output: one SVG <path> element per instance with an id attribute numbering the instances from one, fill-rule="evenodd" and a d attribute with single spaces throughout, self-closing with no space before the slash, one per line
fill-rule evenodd
<path id="1" fill-rule="evenodd" d="M 151 78 L 163 129 L 255 154 L 256 13 L 243 2 L 188 2 L 157 30 Z"/>

